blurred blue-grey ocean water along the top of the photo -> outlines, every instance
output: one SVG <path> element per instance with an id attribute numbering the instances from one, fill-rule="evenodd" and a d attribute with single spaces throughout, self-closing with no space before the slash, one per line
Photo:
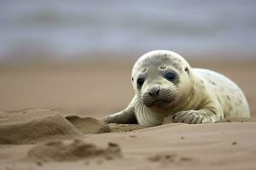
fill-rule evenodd
<path id="1" fill-rule="evenodd" d="M 242 58 L 255 39 L 254 0 L 0 0 L 0 59 L 156 48 Z"/>

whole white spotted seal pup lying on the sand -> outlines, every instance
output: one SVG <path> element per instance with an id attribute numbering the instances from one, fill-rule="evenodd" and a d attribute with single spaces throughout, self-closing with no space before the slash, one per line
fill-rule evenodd
<path id="1" fill-rule="evenodd" d="M 143 54 L 133 66 L 131 82 L 131 103 L 103 121 L 151 127 L 162 124 L 166 116 L 186 123 L 250 116 L 247 99 L 234 82 L 214 71 L 191 68 L 172 51 Z"/>

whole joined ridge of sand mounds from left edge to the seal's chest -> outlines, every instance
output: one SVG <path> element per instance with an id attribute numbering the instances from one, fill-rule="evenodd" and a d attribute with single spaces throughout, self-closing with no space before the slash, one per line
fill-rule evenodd
<path id="1" fill-rule="evenodd" d="M 84 134 L 128 132 L 139 125 L 110 124 L 93 117 L 61 116 L 55 110 L 26 108 L 0 112 L 0 144 L 34 144 Z"/>

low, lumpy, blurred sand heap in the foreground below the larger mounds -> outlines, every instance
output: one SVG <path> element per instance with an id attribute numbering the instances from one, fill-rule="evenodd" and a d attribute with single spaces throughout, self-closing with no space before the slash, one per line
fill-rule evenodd
<path id="1" fill-rule="evenodd" d="M 119 158 L 121 150 L 118 144 L 108 143 L 105 149 L 95 144 L 87 144 L 81 139 L 73 141 L 55 141 L 38 144 L 27 153 L 28 157 L 40 161 L 76 161 L 84 158 L 103 157 L 108 160 Z"/>

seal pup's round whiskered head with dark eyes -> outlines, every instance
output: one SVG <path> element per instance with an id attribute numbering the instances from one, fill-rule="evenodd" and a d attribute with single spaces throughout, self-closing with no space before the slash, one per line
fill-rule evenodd
<path id="1" fill-rule="evenodd" d="M 132 84 L 143 104 L 154 109 L 172 107 L 189 97 L 190 65 L 172 51 L 143 54 L 132 69 Z"/>

